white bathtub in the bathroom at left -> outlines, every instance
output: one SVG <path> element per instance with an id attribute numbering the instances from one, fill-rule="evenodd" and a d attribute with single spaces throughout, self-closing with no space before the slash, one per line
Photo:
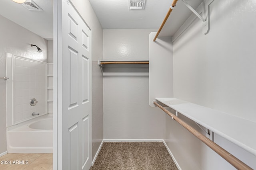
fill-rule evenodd
<path id="1" fill-rule="evenodd" d="M 7 128 L 8 153 L 52 153 L 52 114 Z"/>

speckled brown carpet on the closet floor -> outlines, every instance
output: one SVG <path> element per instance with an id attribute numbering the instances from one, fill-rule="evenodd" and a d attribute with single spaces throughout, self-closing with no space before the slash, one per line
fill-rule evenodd
<path id="1" fill-rule="evenodd" d="M 90 170 L 178 170 L 162 142 L 104 142 Z"/>

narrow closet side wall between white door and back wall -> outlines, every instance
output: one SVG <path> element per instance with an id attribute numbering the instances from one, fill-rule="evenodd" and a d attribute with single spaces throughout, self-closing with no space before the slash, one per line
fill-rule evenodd
<path id="1" fill-rule="evenodd" d="M 92 29 L 92 159 L 103 140 L 103 78 L 98 60 L 103 59 L 103 29 L 89 0 L 72 3 Z"/>

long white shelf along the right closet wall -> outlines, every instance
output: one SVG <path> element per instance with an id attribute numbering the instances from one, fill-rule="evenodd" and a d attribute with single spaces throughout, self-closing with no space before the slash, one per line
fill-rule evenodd
<path id="1" fill-rule="evenodd" d="M 256 122 L 176 98 L 156 100 L 256 156 Z"/>

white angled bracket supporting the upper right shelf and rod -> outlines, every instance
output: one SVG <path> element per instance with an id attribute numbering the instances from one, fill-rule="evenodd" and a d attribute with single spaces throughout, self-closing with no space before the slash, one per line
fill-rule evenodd
<path id="1" fill-rule="evenodd" d="M 202 16 L 200 16 L 200 14 L 198 14 L 198 12 L 196 12 L 196 10 L 194 10 L 194 8 L 192 8 L 192 6 L 190 6 L 190 4 L 188 4 L 188 2 L 186 2 L 186 0 L 182 0 L 182 2 L 203 22 L 202 26 L 202 33 L 203 34 L 207 34 L 208 30 L 209 30 L 209 7 L 208 5 L 206 5 L 206 0 L 203 0 L 202 5 L 203 5 L 203 11 L 202 11 Z"/>

